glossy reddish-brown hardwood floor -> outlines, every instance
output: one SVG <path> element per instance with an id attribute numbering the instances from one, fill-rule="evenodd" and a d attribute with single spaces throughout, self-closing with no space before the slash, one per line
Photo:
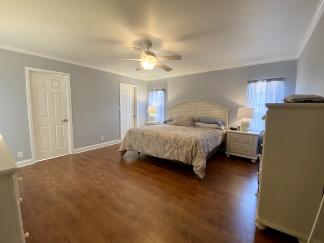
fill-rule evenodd
<path id="1" fill-rule="evenodd" d="M 217 153 L 192 167 L 119 144 L 18 169 L 26 243 L 297 243 L 254 225 L 258 164 Z"/>

